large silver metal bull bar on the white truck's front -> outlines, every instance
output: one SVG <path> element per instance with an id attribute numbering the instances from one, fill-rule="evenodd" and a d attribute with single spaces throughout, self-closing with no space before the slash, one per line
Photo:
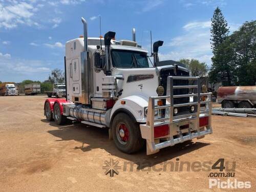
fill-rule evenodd
<path id="1" fill-rule="evenodd" d="M 174 86 L 174 80 L 185 79 L 193 80 L 194 85 Z M 196 83 L 196 84 L 195 84 Z M 197 89 L 196 93 L 183 95 L 174 95 L 174 89 Z M 211 110 L 212 110 L 212 93 L 200 93 L 199 77 L 168 76 L 166 96 L 154 96 L 148 100 L 147 120 L 145 124 L 140 124 L 141 136 L 146 139 L 147 155 L 157 153 L 161 148 L 173 146 L 194 138 L 202 138 L 204 135 L 211 134 Z M 207 97 L 201 101 L 201 97 Z M 174 98 L 193 97 L 193 101 L 187 103 L 174 104 Z M 194 101 L 196 98 L 196 101 Z M 164 105 L 157 105 L 157 100 L 166 99 Z M 200 107 L 205 104 L 204 107 Z M 180 106 L 197 106 L 197 110 L 188 114 L 174 115 L 174 109 Z M 160 112 L 165 110 L 164 117 L 156 117 L 156 110 Z M 159 113 L 158 113 L 159 114 Z M 161 113 L 160 113 L 161 114 Z M 201 118 L 207 118 L 207 124 L 200 124 Z M 155 128 L 167 126 L 168 133 L 164 136 L 155 137 Z M 160 142 L 160 139 L 163 140 Z"/>

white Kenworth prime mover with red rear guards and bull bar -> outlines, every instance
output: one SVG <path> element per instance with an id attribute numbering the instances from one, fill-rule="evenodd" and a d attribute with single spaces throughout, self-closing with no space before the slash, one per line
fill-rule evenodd
<path id="1" fill-rule="evenodd" d="M 116 40 L 115 32 L 66 42 L 66 98 L 48 98 L 47 120 L 67 120 L 106 128 L 118 150 L 130 154 L 146 144 L 146 154 L 212 133 L 212 94 L 201 93 L 199 77 L 173 62 L 154 61 L 136 41 Z M 201 97 L 206 97 L 201 101 Z M 205 104 L 204 107 L 200 107 Z M 95 128 L 96 129 L 96 128 Z"/>

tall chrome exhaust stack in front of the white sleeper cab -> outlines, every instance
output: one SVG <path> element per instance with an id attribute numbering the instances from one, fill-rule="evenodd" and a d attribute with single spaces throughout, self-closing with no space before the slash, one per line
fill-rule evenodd
<path id="1" fill-rule="evenodd" d="M 79 102 L 82 104 L 91 104 L 90 93 L 93 88 L 91 66 L 88 62 L 88 29 L 86 19 L 81 17 L 83 24 L 83 45 L 84 51 L 81 52 L 81 98 Z"/>

